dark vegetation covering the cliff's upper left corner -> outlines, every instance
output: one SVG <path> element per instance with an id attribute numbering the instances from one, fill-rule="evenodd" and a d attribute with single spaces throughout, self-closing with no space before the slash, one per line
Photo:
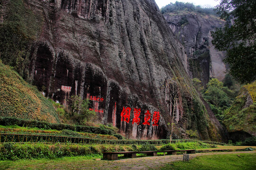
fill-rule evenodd
<path id="1" fill-rule="evenodd" d="M 23 0 L 10 0 L 0 24 L 0 59 L 28 78 L 30 46 L 41 29 L 41 18 L 24 6 Z"/>

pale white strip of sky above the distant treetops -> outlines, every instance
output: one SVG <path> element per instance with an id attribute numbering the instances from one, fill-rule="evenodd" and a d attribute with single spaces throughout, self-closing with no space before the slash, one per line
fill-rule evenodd
<path id="1" fill-rule="evenodd" d="M 162 8 L 171 2 L 175 3 L 175 1 L 193 3 L 196 6 L 200 5 L 202 8 L 212 8 L 218 5 L 220 0 L 155 0 L 159 8 Z"/>

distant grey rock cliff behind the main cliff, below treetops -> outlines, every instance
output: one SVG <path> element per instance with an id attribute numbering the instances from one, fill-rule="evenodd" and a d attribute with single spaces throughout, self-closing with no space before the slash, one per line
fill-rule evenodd
<path id="1" fill-rule="evenodd" d="M 179 14 L 165 13 L 170 28 L 184 45 L 190 77 L 201 79 L 205 85 L 209 77 L 222 80 L 226 66 L 222 62 L 225 54 L 216 51 L 212 45 L 210 31 L 224 26 L 224 21 L 213 15 L 179 11 Z"/>

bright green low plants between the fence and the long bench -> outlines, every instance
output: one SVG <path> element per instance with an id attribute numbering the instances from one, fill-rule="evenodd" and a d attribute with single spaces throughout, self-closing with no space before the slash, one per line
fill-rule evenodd
<path id="1" fill-rule="evenodd" d="M 188 142 L 174 144 L 177 150 L 196 149 L 201 147 L 210 147 L 209 144 L 195 144 Z M 124 152 L 124 151 L 161 151 L 172 150 L 165 146 L 155 146 L 152 144 L 142 145 L 102 145 L 102 144 L 0 144 L 0 160 L 18 160 L 18 159 L 54 159 L 64 156 L 84 156 L 90 154 L 101 154 L 102 152 Z"/>

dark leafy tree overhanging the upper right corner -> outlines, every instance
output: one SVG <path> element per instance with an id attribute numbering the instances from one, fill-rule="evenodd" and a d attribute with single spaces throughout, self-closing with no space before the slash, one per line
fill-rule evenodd
<path id="1" fill-rule="evenodd" d="M 240 83 L 256 80 L 256 0 L 221 0 L 216 10 L 226 25 L 212 32 L 212 44 L 227 51 L 229 74 Z"/>

